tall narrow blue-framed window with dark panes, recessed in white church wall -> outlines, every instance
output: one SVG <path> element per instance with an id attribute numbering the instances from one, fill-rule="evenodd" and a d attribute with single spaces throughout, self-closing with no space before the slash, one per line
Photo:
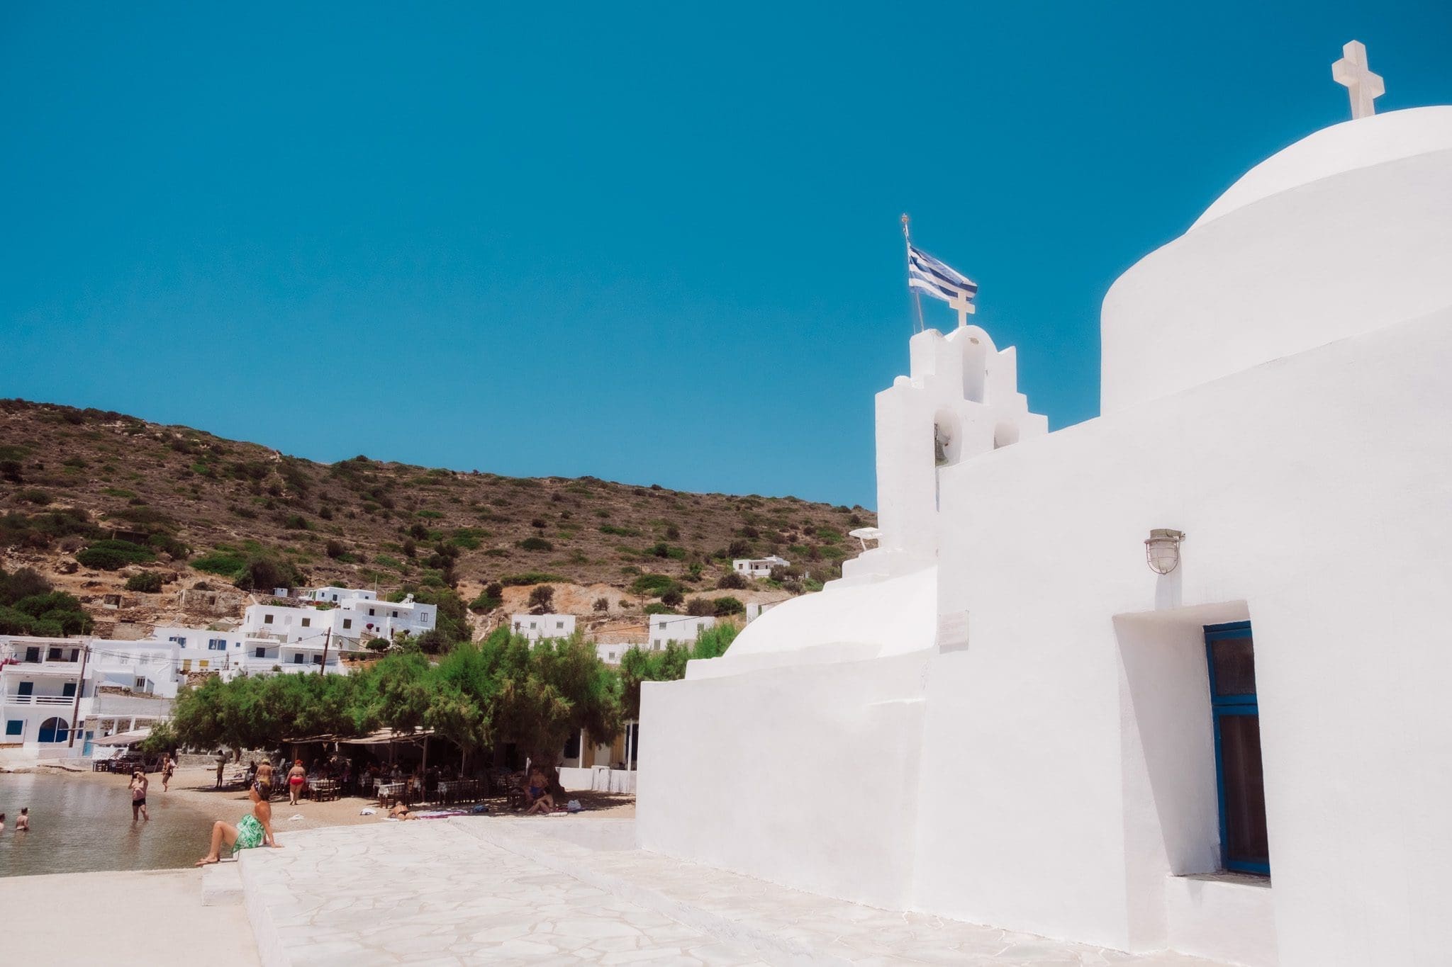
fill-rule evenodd
<path id="1" fill-rule="evenodd" d="M 1270 874 L 1260 706 L 1250 622 L 1205 626 L 1210 706 L 1215 719 L 1220 860 L 1227 870 Z"/>

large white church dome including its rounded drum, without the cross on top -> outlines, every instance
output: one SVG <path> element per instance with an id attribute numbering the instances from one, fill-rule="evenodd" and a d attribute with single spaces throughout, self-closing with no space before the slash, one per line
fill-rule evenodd
<path id="1" fill-rule="evenodd" d="M 1452 107 L 1318 130 L 1109 287 L 1099 409 L 1452 312 L 1448 265 Z"/>

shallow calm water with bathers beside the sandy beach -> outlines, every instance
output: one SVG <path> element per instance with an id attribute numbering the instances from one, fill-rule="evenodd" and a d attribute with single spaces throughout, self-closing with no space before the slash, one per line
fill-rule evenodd
<path id="1" fill-rule="evenodd" d="M 151 776 L 151 821 L 131 821 L 125 776 L 102 781 L 44 773 L 0 774 L 0 876 L 81 873 L 90 870 L 164 870 L 203 855 L 212 816 L 167 800 L 160 776 Z M 228 803 L 231 806 L 232 803 Z M 30 808 L 30 831 L 16 832 L 20 808 Z M 237 812 L 245 812 L 237 803 Z"/>

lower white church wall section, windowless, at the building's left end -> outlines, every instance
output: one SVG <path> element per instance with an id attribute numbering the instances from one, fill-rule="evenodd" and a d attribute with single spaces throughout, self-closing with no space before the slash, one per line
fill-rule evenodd
<path id="1" fill-rule="evenodd" d="M 905 909 L 926 663 L 910 654 L 645 683 L 637 842 Z"/>

